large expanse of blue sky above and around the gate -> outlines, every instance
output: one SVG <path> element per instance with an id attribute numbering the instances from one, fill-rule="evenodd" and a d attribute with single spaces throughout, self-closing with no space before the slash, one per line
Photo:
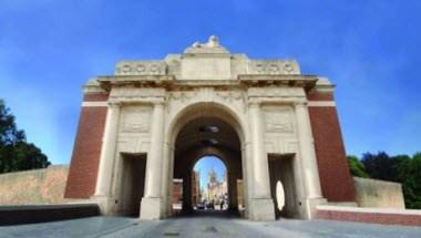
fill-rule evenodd
<path id="1" fill-rule="evenodd" d="M 328 76 L 348 154 L 421 146 L 421 1 L 0 0 L 0 97 L 28 141 L 70 162 L 81 86 L 122 59 L 217 34 L 232 52 Z"/>

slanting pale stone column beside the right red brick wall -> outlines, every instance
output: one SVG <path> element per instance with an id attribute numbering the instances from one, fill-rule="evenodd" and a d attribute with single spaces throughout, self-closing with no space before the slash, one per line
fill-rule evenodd
<path id="1" fill-rule="evenodd" d="M 296 102 L 295 111 L 297 117 L 299 152 L 301 157 L 301 170 L 304 174 L 307 199 L 307 216 L 308 218 L 311 218 L 311 210 L 317 204 L 325 203 L 325 200 L 321 195 L 319 169 L 317 167 L 316 151 L 307 102 Z"/>

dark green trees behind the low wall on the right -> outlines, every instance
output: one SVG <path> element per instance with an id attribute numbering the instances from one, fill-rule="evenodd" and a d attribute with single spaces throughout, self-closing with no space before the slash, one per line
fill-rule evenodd
<path id="1" fill-rule="evenodd" d="M 405 207 L 421 209 L 421 153 L 412 157 L 366 153 L 361 159 L 348 156 L 348 162 L 353 176 L 401 183 Z"/>

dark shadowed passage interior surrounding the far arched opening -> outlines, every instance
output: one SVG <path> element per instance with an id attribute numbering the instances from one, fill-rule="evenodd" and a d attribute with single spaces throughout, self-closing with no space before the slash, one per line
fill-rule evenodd
<path id="1" fill-rule="evenodd" d="M 197 196 L 193 199 L 196 176 L 194 167 L 205 156 L 217 157 L 226 167 L 224 210 L 244 210 L 242 147 L 237 128 L 217 113 L 210 115 L 202 113 L 199 116 L 186 120 L 175 136 L 171 190 L 173 214 L 191 214 L 197 209 Z M 216 204 L 219 206 L 219 203 L 220 200 L 216 201 L 214 197 L 214 206 Z"/>

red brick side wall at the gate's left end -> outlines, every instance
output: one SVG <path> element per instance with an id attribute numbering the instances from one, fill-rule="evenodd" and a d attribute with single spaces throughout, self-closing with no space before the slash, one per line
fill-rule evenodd
<path id="1" fill-rule="evenodd" d="M 106 101 L 106 95 L 85 95 L 84 101 Z M 106 106 L 83 106 L 79 120 L 65 198 L 89 198 L 95 192 Z"/>

